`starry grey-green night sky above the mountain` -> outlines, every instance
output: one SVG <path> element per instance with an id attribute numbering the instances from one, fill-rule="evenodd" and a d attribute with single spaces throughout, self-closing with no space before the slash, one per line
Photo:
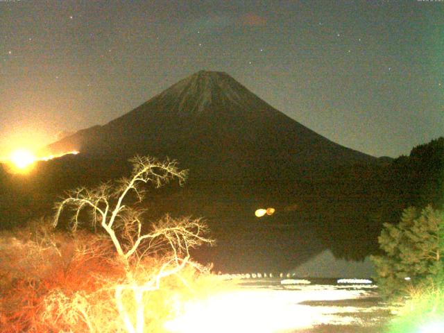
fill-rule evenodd
<path id="1" fill-rule="evenodd" d="M 0 156 L 225 71 L 334 142 L 444 135 L 444 1 L 0 0 Z"/>

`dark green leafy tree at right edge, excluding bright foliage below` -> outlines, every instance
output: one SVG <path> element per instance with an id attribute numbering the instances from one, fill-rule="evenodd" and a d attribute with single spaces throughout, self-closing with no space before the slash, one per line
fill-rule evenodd
<path id="1" fill-rule="evenodd" d="M 434 280 L 443 270 L 444 214 L 430 205 L 422 211 L 409 207 L 398 225 L 384 223 L 378 241 L 384 255 L 372 260 L 379 288 L 387 296 Z"/>

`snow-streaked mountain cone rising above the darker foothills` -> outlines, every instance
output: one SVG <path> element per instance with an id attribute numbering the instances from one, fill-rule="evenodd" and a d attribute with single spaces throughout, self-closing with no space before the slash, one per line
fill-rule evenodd
<path id="1" fill-rule="evenodd" d="M 191 175 L 248 178 L 376 160 L 318 135 L 218 71 L 198 71 L 104 126 L 47 148 L 106 158 L 169 156 Z"/>

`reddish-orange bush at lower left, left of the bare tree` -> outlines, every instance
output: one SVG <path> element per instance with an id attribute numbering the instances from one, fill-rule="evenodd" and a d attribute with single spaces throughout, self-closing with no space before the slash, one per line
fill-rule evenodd
<path id="1" fill-rule="evenodd" d="M 93 293 L 103 280 L 124 276 L 109 255 L 109 241 L 85 232 L 75 237 L 54 232 L 39 222 L 0 235 L 1 332 L 51 332 L 53 324 L 44 320 L 51 293 Z"/>

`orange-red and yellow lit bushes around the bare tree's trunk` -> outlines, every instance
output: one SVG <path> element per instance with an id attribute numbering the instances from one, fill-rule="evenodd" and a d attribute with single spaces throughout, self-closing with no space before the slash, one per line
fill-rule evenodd
<path id="1" fill-rule="evenodd" d="M 152 280 L 162 259 L 139 260 L 128 284 L 110 240 L 87 232 L 54 232 L 43 240 L 28 238 L 28 230 L 0 235 L 1 332 L 128 332 L 115 290 L 125 287 L 121 304 L 135 323 L 137 301 L 127 287 Z M 143 332 L 163 332 L 183 302 L 205 297 L 215 283 L 221 282 L 191 264 L 162 279 L 159 289 L 142 293 Z"/>

